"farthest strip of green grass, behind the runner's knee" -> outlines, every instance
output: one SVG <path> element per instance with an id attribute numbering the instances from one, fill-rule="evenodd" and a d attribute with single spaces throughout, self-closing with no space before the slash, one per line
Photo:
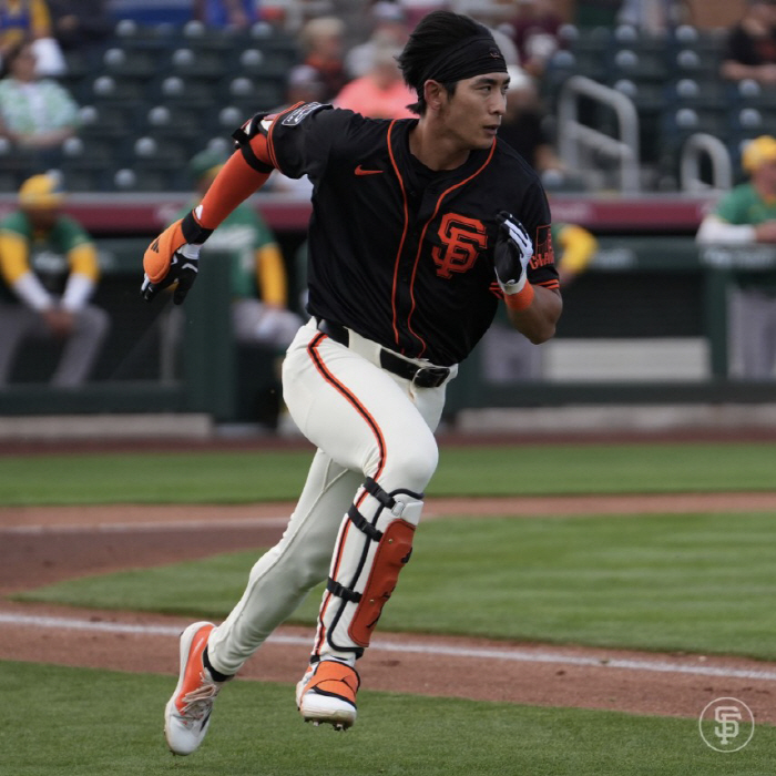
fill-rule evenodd
<path id="1" fill-rule="evenodd" d="M 296 499 L 312 450 L 20 456 L 0 504 Z M 446 447 L 430 496 L 772 490 L 773 443 Z"/>

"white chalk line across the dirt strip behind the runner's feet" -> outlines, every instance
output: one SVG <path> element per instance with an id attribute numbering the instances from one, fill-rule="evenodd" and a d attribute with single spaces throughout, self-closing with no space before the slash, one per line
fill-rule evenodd
<path id="1" fill-rule="evenodd" d="M 181 635 L 181 627 L 173 625 L 140 625 L 132 623 L 91 622 L 70 617 L 47 617 L 28 614 L 14 614 L 0 612 L 0 623 L 8 625 L 21 625 L 33 627 L 70 629 L 78 631 L 100 631 L 103 633 L 130 633 L 147 636 L 174 636 Z M 286 634 L 273 634 L 267 640 L 274 644 L 293 644 L 299 646 L 309 645 L 306 636 L 293 636 Z M 697 676 L 719 676 L 725 678 L 748 678 L 776 682 L 776 671 L 734 668 L 712 665 L 683 665 L 667 661 L 650 661 L 612 657 L 582 657 L 578 655 L 563 655 L 553 652 L 528 651 L 519 649 L 496 647 L 467 647 L 448 646 L 445 644 L 402 643 L 376 640 L 369 647 L 371 652 L 402 652 L 408 654 L 445 655 L 448 657 L 462 657 L 471 660 L 504 660 L 521 663 L 555 663 L 559 665 L 579 665 L 595 668 L 625 668 L 629 671 L 652 671 L 664 674 L 694 674 Z"/>

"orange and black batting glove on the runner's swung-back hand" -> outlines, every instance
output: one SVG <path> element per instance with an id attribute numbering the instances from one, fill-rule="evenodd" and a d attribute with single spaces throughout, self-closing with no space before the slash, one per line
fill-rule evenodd
<path id="1" fill-rule="evenodd" d="M 194 285 L 200 270 L 200 251 L 213 234 L 197 223 L 194 213 L 167 226 L 145 249 L 141 296 L 152 302 L 159 292 L 177 284 L 173 302 L 180 305 Z"/>

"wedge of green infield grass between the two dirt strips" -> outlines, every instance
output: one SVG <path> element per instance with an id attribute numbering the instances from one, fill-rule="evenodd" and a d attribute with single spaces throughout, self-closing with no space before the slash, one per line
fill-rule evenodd
<path id="1" fill-rule="evenodd" d="M 770 514 L 455 519 L 421 524 L 381 631 L 776 658 Z M 259 551 L 21 594 L 225 616 Z M 312 623 L 319 593 L 294 616 Z"/>

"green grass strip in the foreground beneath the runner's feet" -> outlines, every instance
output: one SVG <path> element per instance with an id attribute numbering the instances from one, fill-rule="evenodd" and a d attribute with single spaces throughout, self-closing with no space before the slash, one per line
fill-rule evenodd
<path id="1" fill-rule="evenodd" d="M 163 744 L 170 676 L 0 663 L 0 773 L 9 776 L 760 776 L 776 731 L 721 754 L 696 719 L 364 691 L 359 721 L 304 725 L 287 685 L 235 682 L 200 752 Z M 744 698 L 742 698 L 744 700 Z M 698 697 L 698 714 L 706 703 Z M 11 711 L 12 709 L 12 711 Z M 751 729 L 751 728 L 749 728 Z"/>

